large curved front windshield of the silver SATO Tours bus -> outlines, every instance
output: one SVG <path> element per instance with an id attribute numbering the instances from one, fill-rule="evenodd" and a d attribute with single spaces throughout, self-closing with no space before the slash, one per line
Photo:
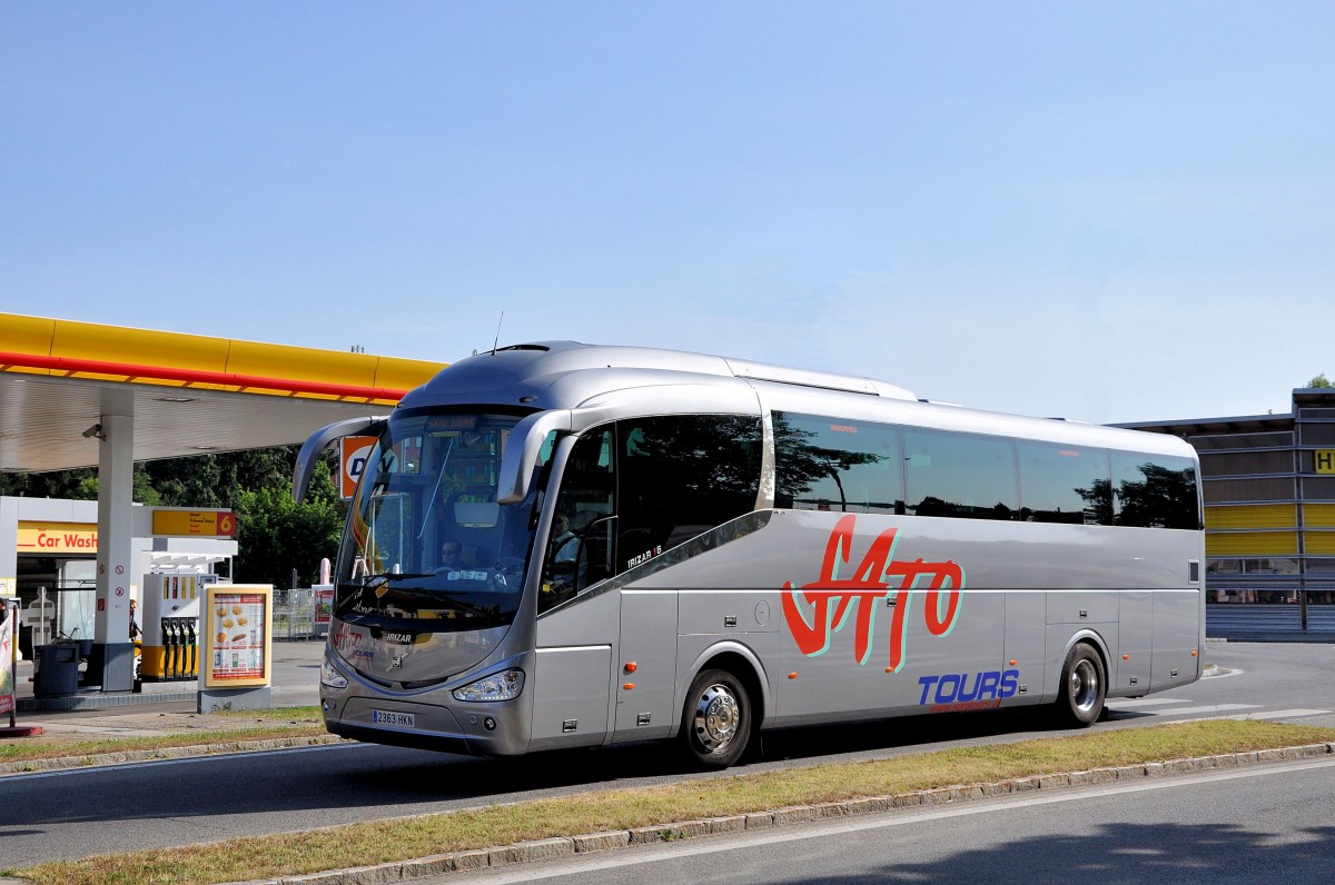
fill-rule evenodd
<path id="1" fill-rule="evenodd" d="M 335 614 L 427 631 L 502 627 L 523 593 L 534 489 L 497 505 L 517 415 L 395 415 L 371 450 L 335 573 Z"/>

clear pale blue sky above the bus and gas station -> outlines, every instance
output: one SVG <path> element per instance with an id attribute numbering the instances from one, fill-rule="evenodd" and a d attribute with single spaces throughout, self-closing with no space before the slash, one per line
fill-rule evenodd
<path id="1" fill-rule="evenodd" d="M 1330 3 L 0 0 L 0 311 L 1097 422 L 1335 378 Z"/>

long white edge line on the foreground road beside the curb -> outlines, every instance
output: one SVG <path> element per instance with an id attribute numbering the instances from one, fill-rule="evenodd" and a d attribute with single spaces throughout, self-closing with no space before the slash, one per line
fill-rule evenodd
<path id="1" fill-rule="evenodd" d="M 598 857 L 597 860 L 587 861 L 549 861 L 542 869 L 514 869 L 506 870 L 501 874 L 481 873 L 478 876 L 465 877 L 462 873 L 450 873 L 451 880 L 458 877 L 461 881 L 474 881 L 474 882 L 487 882 L 487 885 L 517 885 L 519 882 L 533 882 L 545 878 L 558 878 L 562 876 L 578 876 L 581 873 L 590 873 L 597 870 L 607 870 L 617 868 L 638 866 L 641 864 L 653 864 L 663 858 L 684 858 L 684 857 L 704 857 L 709 854 L 720 854 L 724 852 L 737 850 L 740 845 L 748 848 L 762 846 L 762 845 L 780 845 L 782 842 L 796 842 L 798 840 L 809 838 L 828 838 L 830 836 L 841 836 L 844 833 L 860 833 L 865 830 L 889 829 L 893 826 L 905 826 L 909 824 L 918 824 L 922 821 L 940 821 L 949 820 L 955 817 L 965 817 L 969 814 L 993 814 L 997 808 L 1016 809 L 1016 808 L 1032 808 L 1036 805 L 1051 805 L 1053 802 L 1073 802 L 1087 798 L 1100 798 L 1104 796 L 1120 796 L 1123 793 L 1143 793 L 1148 790 L 1169 790 L 1177 789 L 1179 786 L 1189 786 L 1202 782 L 1211 781 L 1234 781 L 1250 777 L 1267 777 L 1274 774 L 1276 769 L 1284 772 L 1306 772 L 1316 769 L 1335 768 L 1335 760 L 1319 760 L 1319 761 L 1304 761 L 1295 764 L 1280 764 L 1280 765 L 1258 765 L 1255 768 L 1248 766 L 1246 769 L 1227 770 L 1227 772 L 1210 772 L 1200 774 L 1191 774 L 1185 777 L 1156 777 L 1145 778 L 1143 782 L 1136 784 L 1109 784 L 1097 785 L 1088 788 L 1059 788 L 1048 796 L 1041 794 L 1021 794 L 1024 798 L 1011 797 L 997 797 L 996 800 L 973 800 L 964 802 L 959 806 L 941 808 L 932 810 L 900 810 L 900 812 L 885 812 L 882 814 L 870 816 L 872 820 L 853 820 L 841 818 L 838 822 L 833 824 L 812 824 L 812 825 L 796 825 L 793 828 L 777 828 L 768 830 L 757 830 L 757 833 L 764 833 L 764 836 L 752 836 L 749 833 L 725 834 L 714 838 L 702 837 L 700 844 L 690 842 L 673 842 L 673 844 L 659 844 L 651 848 L 634 848 L 622 849 L 626 853 L 611 854 L 606 857 Z"/>

